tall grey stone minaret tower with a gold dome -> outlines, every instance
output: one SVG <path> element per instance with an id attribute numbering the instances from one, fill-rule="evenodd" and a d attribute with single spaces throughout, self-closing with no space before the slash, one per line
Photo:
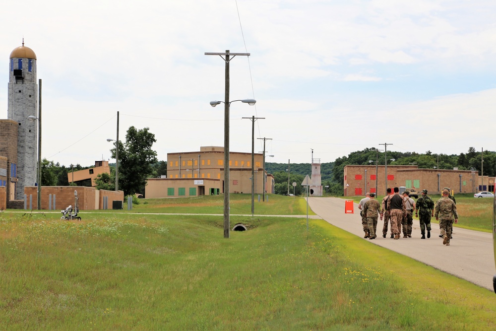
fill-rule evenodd
<path id="1" fill-rule="evenodd" d="M 24 38 L 10 53 L 9 65 L 7 118 L 19 124 L 15 199 L 24 199 L 24 187 L 36 184 L 38 141 L 38 123 L 28 119 L 38 117 L 36 54 L 24 46 Z"/>

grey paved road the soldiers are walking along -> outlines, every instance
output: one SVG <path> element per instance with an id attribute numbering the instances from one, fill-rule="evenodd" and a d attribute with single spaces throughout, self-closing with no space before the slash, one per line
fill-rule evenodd
<path id="1" fill-rule="evenodd" d="M 355 203 L 354 214 L 345 214 L 344 204 L 345 200 L 339 198 L 309 198 L 311 210 L 322 219 L 363 238 L 358 204 Z M 463 222 L 463 218 L 458 221 Z M 431 239 L 420 239 L 420 224 L 414 219 L 412 238 L 399 240 L 391 239 L 390 236 L 382 238 L 383 224 L 381 220 L 377 223 L 379 234 L 376 239 L 364 240 L 493 291 L 493 275 L 496 273 L 493 234 L 454 227 L 450 246 L 444 246 L 438 237 L 439 226 L 435 223 L 432 223 Z"/>

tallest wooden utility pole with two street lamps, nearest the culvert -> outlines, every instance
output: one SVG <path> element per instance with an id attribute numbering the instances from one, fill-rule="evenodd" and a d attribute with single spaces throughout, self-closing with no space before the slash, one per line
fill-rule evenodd
<path id="1" fill-rule="evenodd" d="M 229 58 L 229 56 L 227 56 Z M 226 78 L 229 77 L 229 63 L 226 64 Z M 227 78 L 226 85 L 229 86 Z M 229 88 L 226 87 L 226 93 L 229 97 Z M 241 101 L 253 106 L 256 103 L 254 99 L 240 99 L 233 101 L 210 101 L 210 106 L 215 107 L 220 103 L 224 103 L 224 238 L 229 238 L 229 112 L 231 103 Z"/>

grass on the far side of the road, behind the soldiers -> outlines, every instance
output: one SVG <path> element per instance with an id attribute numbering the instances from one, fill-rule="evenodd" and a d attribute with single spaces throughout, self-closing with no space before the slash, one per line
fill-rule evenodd
<path id="1" fill-rule="evenodd" d="M 441 198 L 440 195 L 429 195 L 434 203 Z M 344 197 L 343 199 L 354 200 L 359 203 L 364 197 Z M 376 199 L 382 201 L 383 196 Z M 477 199 L 473 194 L 459 194 L 455 196 L 456 211 L 458 212 L 458 223 L 453 227 L 461 227 L 470 230 L 493 232 L 493 199 Z M 416 199 L 414 199 L 416 200 Z M 413 214 L 414 219 L 415 213 Z M 431 222 L 437 223 L 433 217 Z"/>

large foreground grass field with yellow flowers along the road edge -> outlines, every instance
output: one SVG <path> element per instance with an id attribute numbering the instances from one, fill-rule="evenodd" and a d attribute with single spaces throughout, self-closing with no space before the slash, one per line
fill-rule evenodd
<path id="1" fill-rule="evenodd" d="M 496 328 L 494 293 L 321 220 L 0 216 L 2 329 Z"/>

